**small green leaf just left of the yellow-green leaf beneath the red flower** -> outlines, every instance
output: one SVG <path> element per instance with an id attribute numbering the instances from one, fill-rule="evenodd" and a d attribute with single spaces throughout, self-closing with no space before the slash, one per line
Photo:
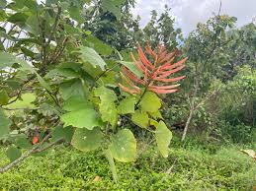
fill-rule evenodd
<path id="1" fill-rule="evenodd" d="M 135 107 L 135 97 L 129 96 L 120 102 L 118 106 L 118 112 L 120 114 L 134 113 L 134 107 Z"/>

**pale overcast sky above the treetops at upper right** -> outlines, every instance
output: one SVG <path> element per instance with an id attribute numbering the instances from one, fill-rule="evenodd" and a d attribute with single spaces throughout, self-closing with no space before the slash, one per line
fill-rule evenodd
<path id="1" fill-rule="evenodd" d="M 175 25 L 184 34 L 193 31 L 199 22 L 205 22 L 213 12 L 218 12 L 219 0 L 136 0 L 134 15 L 141 17 L 143 27 L 150 19 L 150 11 L 155 9 L 161 13 L 167 4 L 172 10 L 170 14 L 176 18 Z M 256 17 L 256 0 L 222 0 L 221 14 L 238 19 L 237 26 L 243 26 Z"/>

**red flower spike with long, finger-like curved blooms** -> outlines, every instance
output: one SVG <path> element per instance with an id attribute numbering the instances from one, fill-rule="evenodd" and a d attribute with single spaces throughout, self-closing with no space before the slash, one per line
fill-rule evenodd
<path id="1" fill-rule="evenodd" d="M 132 52 L 130 52 L 133 64 L 140 72 L 143 73 L 144 77 L 143 79 L 137 78 L 128 70 L 127 67 L 124 66 L 122 78 L 127 82 L 129 88 L 119 84 L 122 90 L 130 94 L 140 94 L 141 90 L 137 87 L 137 85 L 140 85 L 146 90 L 152 91 L 156 94 L 169 94 L 176 92 L 177 89 L 175 88 L 180 86 L 180 84 L 170 86 L 158 85 L 163 83 L 173 83 L 184 79 L 186 76 L 176 78 L 169 77 L 185 67 L 183 63 L 188 59 L 188 57 L 173 63 L 175 56 L 179 54 L 179 50 L 176 49 L 173 52 L 168 53 L 168 50 L 163 45 L 158 45 L 155 51 L 152 50 L 150 45 L 147 45 L 146 52 L 152 58 L 153 63 L 147 59 L 140 45 L 137 47 L 138 60 L 136 60 Z"/>

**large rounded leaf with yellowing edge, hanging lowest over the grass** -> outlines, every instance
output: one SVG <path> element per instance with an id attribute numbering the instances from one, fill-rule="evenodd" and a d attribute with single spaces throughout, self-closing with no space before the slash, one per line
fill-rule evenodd
<path id="1" fill-rule="evenodd" d="M 109 149 L 112 157 L 119 161 L 128 162 L 136 159 L 136 140 L 128 129 L 123 129 L 112 136 Z"/>

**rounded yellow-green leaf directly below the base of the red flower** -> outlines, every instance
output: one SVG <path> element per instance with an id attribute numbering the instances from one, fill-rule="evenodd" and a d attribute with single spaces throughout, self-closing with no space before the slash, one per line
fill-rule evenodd
<path id="1" fill-rule="evenodd" d="M 141 98 L 139 105 L 143 111 L 157 112 L 161 107 L 161 101 L 160 98 L 154 93 L 146 92 L 145 95 Z"/>

